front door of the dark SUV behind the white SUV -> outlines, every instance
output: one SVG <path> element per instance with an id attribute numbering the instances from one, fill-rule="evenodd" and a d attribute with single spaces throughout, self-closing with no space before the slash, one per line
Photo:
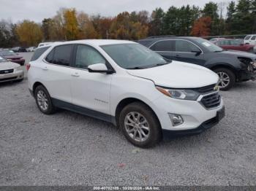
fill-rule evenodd
<path id="1" fill-rule="evenodd" d="M 200 47 L 194 43 L 183 39 L 175 40 L 175 52 L 173 52 L 173 60 L 195 63 L 201 66 L 206 63 L 204 60 L 203 50 L 200 50 Z"/>

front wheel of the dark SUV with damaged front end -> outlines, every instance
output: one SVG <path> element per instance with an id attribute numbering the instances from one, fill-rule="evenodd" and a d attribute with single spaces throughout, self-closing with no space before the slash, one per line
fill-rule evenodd
<path id="1" fill-rule="evenodd" d="M 219 90 L 230 90 L 230 88 L 236 83 L 236 75 L 230 69 L 219 68 L 214 69 L 214 72 L 219 75 Z"/>

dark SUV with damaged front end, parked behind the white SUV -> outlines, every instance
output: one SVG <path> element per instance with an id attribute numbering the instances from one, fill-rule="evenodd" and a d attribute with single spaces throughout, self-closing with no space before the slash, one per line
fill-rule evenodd
<path id="1" fill-rule="evenodd" d="M 223 50 L 198 37 L 150 38 L 139 41 L 163 57 L 205 66 L 219 75 L 221 90 L 229 90 L 235 82 L 256 78 L 256 55 Z"/>

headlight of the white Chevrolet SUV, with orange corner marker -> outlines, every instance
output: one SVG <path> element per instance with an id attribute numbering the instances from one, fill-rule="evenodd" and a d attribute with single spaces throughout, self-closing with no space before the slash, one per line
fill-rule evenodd
<path id="1" fill-rule="evenodd" d="M 194 90 L 173 90 L 165 89 L 164 87 L 156 86 L 159 92 L 169 96 L 170 98 L 184 99 L 196 101 L 200 93 L 195 92 Z"/>

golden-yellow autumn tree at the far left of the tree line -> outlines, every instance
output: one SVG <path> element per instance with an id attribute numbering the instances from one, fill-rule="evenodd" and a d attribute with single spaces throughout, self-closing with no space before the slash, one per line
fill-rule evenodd
<path id="1" fill-rule="evenodd" d="M 34 21 L 23 20 L 15 29 L 19 42 L 24 46 L 37 46 L 42 41 L 41 27 Z"/>

